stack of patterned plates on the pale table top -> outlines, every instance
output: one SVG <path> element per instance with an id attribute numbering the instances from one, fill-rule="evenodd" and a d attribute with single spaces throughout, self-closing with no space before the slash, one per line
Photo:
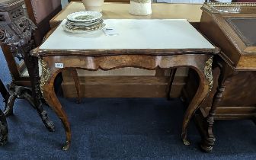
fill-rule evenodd
<path id="1" fill-rule="evenodd" d="M 72 33 L 91 33 L 101 30 L 105 24 L 102 14 L 98 11 L 79 11 L 69 14 L 67 21 L 62 25 L 64 30 Z"/>

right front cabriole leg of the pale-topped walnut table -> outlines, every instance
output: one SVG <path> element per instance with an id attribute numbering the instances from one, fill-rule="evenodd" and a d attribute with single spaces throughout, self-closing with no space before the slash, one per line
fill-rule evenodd
<path id="1" fill-rule="evenodd" d="M 187 126 L 191 118 L 194 116 L 196 110 L 200 107 L 200 104 L 206 98 L 206 95 L 213 88 L 213 75 L 212 75 L 212 63 L 213 57 L 206 61 L 206 66 L 204 69 L 198 70 L 197 74 L 200 77 L 200 85 L 197 89 L 197 93 L 187 107 L 186 113 L 184 115 L 181 138 L 185 145 L 190 145 L 187 140 Z"/>

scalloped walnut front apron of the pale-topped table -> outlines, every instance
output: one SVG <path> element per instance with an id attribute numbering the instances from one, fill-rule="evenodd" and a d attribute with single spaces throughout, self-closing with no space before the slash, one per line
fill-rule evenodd
<path id="1" fill-rule="evenodd" d="M 148 55 L 118 55 L 118 56 L 45 56 L 43 62 L 51 72 L 57 70 L 75 68 L 85 70 L 110 70 L 124 67 L 135 67 L 153 70 L 157 67 L 177 68 L 190 67 L 203 69 L 210 54 L 184 54 L 173 56 L 148 56 Z M 56 67 L 56 64 L 62 66 Z"/>

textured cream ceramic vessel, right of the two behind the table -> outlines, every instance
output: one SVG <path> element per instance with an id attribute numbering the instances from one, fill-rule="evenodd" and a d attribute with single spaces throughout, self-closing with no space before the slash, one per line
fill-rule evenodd
<path id="1" fill-rule="evenodd" d="M 129 13 L 133 15 L 152 14 L 151 0 L 131 0 Z"/>

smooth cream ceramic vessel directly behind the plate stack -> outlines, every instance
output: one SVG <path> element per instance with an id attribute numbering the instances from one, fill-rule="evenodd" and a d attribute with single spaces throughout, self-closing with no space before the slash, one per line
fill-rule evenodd
<path id="1" fill-rule="evenodd" d="M 104 0 L 82 0 L 86 11 L 102 11 Z"/>

